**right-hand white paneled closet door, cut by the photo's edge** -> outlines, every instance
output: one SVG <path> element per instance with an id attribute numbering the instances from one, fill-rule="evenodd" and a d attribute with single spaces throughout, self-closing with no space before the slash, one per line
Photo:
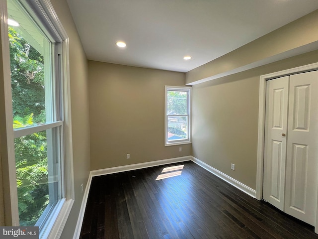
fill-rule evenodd
<path id="1" fill-rule="evenodd" d="M 285 212 L 316 225 L 318 71 L 290 76 Z"/>

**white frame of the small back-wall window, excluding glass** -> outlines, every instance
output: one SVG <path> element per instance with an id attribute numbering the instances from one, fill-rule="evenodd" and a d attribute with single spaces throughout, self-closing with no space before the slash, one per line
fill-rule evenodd
<path id="1" fill-rule="evenodd" d="M 177 139 L 173 141 L 168 140 L 168 115 L 167 115 L 167 97 L 168 97 L 168 91 L 181 91 L 181 92 L 187 92 L 187 127 L 188 127 L 188 138 L 186 139 Z M 185 87 L 185 86 L 164 86 L 164 146 L 171 146 L 171 145 L 181 145 L 181 144 L 188 144 L 192 143 L 191 141 L 191 104 L 192 102 L 192 87 Z M 179 115 L 176 115 L 179 116 Z M 181 115 L 180 115 L 181 116 Z"/>

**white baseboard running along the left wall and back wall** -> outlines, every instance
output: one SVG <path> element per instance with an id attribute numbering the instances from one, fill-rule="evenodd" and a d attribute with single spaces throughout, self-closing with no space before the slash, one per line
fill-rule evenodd
<path id="1" fill-rule="evenodd" d="M 93 177 L 111 174 L 111 173 L 125 172 L 125 171 L 130 171 L 130 170 L 135 170 L 135 169 L 141 169 L 141 168 L 149 168 L 149 167 L 154 167 L 154 166 L 159 166 L 159 165 L 164 165 L 164 164 L 169 164 L 169 163 L 191 161 L 191 160 L 192 160 L 192 156 L 185 156 L 185 157 L 169 158 L 169 159 L 157 160 L 157 161 L 146 162 L 146 163 L 137 163 L 137 164 L 131 164 L 131 165 L 125 165 L 125 166 L 90 171 L 89 176 L 88 176 L 88 180 L 87 180 L 87 184 L 86 184 L 86 188 L 85 188 L 85 192 L 83 195 L 83 199 L 81 202 L 80 211 L 79 211 L 79 218 L 78 218 L 78 222 L 76 225 L 73 239 L 79 239 L 79 236 L 80 236 L 80 230 L 81 230 L 81 226 L 82 226 L 83 219 L 84 219 L 84 213 L 85 213 L 86 203 L 87 203 L 87 199 L 88 199 L 88 193 L 89 193 L 89 189 L 90 189 L 91 180 Z"/>

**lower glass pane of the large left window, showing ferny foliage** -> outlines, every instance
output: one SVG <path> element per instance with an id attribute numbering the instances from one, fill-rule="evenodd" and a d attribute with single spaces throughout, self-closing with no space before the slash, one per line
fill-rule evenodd
<path id="1" fill-rule="evenodd" d="M 40 226 L 60 199 L 59 129 L 14 139 L 20 226 Z"/>

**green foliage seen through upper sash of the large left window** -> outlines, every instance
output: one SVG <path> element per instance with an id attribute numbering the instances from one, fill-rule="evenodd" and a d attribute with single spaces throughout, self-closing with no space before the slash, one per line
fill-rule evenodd
<path id="1" fill-rule="evenodd" d="M 13 118 L 45 122 L 43 56 L 9 26 Z"/>

